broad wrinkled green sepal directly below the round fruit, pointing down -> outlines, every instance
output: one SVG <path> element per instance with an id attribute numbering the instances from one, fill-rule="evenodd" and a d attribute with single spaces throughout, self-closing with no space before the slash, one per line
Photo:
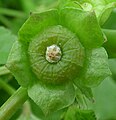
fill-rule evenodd
<path id="1" fill-rule="evenodd" d="M 72 104 L 75 90 L 72 83 L 54 86 L 37 82 L 28 88 L 28 95 L 48 115 Z"/>

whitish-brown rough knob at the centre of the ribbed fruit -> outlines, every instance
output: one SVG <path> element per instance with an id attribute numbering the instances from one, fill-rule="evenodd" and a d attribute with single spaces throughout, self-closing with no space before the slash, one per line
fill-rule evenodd
<path id="1" fill-rule="evenodd" d="M 57 45 L 48 46 L 46 49 L 46 60 L 50 63 L 57 63 L 61 59 L 61 49 Z"/>

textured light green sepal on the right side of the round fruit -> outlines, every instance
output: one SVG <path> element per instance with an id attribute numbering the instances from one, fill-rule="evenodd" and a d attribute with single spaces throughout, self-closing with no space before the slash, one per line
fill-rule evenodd
<path id="1" fill-rule="evenodd" d="M 111 75 L 108 65 L 108 56 L 103 47 L 87 51 L 87 58 L 79 80 L 87 87 L 97 86 L 106 77 Z"/>

